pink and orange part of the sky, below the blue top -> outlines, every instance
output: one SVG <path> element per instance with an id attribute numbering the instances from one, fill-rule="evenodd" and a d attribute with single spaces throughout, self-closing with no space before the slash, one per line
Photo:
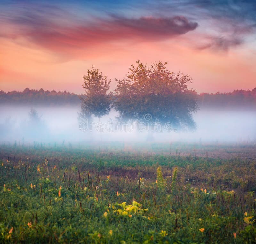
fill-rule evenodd
<path id="1" fill-rule="evenodd" d="M 84 24 L 63 11 L 50 22 L 47 14 L 43 19 L 36 11 L 34 20 L 29 16 L 28 21 L 26 13 L 19 10 L 20 19 L 0 16 L 0 90 L 29 87 L 83 93 L 83 76 L 92 65 L 113 80 L 114 89 L 114 79 L 123 78 L 136 60 L 148 65 L 168 62 L 171 71 L 189 74 L 190 87 L 199 93 L 256 86 L 255 41 L 251 36 L 239 39 L 247 30 L 235 37 L 229 30 L 214 34 L 216 27 L 206 32 L 205 22 L 183 16 L 141 13 L 130 19 L 94 17 Z"/>

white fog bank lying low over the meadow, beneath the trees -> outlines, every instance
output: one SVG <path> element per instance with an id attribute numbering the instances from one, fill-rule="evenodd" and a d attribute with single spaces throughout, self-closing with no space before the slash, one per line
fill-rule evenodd
<path id="1" fill-rule="evenodd" d="M 80 107 L 0 106 L 0 139 L 3 144 L 111 142 L 256 142 L 256 112 L 252 110 L 200 109 L 194 114 L 195 131 L 151 131 L 136 124 L 116 127 L 116 112 L 93 118 L 88 126 L 78 120 Z"/>

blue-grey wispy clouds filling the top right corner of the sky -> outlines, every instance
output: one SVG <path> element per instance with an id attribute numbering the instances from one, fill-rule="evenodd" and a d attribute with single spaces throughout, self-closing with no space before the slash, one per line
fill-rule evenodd
<path id="1" fill-rule="evenodd" d="M 159 0 L 151 4 L 149 8 L 158 14 L 175 11 L 200 23 L 198 38 L 191 40 L 197 49 L 228 51 L 253 39 L 252 36 L 255 39 L 255 0 Z M 202 45 L 201 40 L 206 44 Z"/>

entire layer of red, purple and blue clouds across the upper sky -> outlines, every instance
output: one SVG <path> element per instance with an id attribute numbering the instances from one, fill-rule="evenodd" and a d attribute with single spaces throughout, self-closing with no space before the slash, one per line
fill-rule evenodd
<path id="1" fill-rule="evenodd" d="M 47 0 L 6 1 L 0 13 L 0 37 L 23 38 L 30 44 L 72 56 L 75 49 L 119 40 L 166 40 L 194 30 L 189 42 L 196 49 L 228 51 L 244 44 L 256 30 L 255 0 L 147 0 L 146 4 L 133 0 L 109 4 L 103 0 L 97 10 L 90 1 L 76 4 L 81 9 L 71 11 L 65 1 L 55 5 Z M 125 6 L 128 11 L 121 15 Z"/>

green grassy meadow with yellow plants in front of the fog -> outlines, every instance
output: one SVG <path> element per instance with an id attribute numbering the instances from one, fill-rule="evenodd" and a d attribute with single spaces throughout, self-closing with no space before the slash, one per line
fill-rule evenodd
<path id="1" fill-rule="evenodd" d="M 256 146 L 2 145 L 1 243 L 256 243 Z"/>

